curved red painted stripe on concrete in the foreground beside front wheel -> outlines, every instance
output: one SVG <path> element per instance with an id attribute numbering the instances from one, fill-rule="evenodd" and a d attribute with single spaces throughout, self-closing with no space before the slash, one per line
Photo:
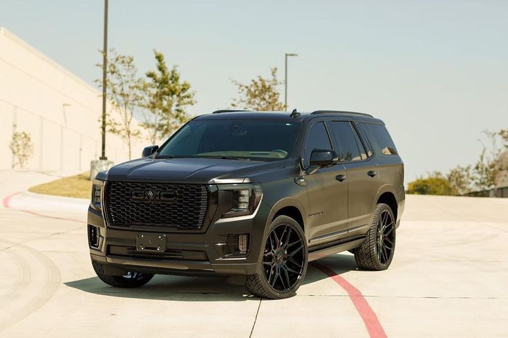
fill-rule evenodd
<path id="1" fill-rule="evenodd" d="M 360 314 L 361 319 L 364 321 L 365 326 L 367 328 L 368 334 L 373 338 L 386 338 L 386 333 L 384 332 L 381 323 L 379 323 L 379 319 L 372 308 L 367 303 L 364 295 L 361 294 L 360 290 L 355 288 L 351 283 L 346 281 L 346 279 L 342 278 L 338 274 L 336 274 L 333 270 L 325 265 L 321 265 L 319 263 L 312 263 L 315 267 L 317 267 L 324 274 L 328 274 L 335 283 L 341 285 L 341 288 L 348 292 L 349 298 L 352 303 L 357 308 L 358 313 Z"/>

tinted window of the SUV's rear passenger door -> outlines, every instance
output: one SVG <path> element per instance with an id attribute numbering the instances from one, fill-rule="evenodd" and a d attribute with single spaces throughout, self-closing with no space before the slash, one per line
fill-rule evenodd
<path id="1" fill-rule="evenodd" d="M 337 144 L 338 147 L 337 153 L 339 155 L 339 161 L 350 162 L 367 157 L 365 151 L 362 151 L 363 156 L 360 153 L 358 145 L 359 139 L 357 135 L 355 135 L 355 131 L 352 129 L 350 122 L 332 121 L 330 122 L 330 129 L 332 129 L 335 144 Z M 363 149 L 363 146 L 361 146 L 361 149 Z"/>

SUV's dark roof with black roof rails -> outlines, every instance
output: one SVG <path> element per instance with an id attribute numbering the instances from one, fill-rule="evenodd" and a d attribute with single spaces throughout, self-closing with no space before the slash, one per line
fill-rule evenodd
<path id="1" fill-rule="evenodd" d="M 280 120 L 280 121 L 303 121 L 309 120 L 312 117 L 347 117 L 353 120 L 370 120 L 381 122 L 372 115 L 366 113 L 356 113 L 352 111 L 299 111 L 294 114 L 290 111 L 239 111 L 239 110 L 220 110 L 214 111 L 210 114 L 200 115 L 196 119 L 200 120 L 223 120 L 224 118 L 231 119 L 249 119 L 249 120 Z"/>

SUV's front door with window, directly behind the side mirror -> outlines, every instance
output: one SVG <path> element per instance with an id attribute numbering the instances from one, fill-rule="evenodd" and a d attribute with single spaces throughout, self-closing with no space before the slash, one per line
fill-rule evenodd
<path id="1" fill-rule="evenodd" d="M 310 125 L 303 149 L 306 167 L 310 164 L 310 154 L 314 149 L 333 149 L 323 120 Z M 308 191 L 308 238 L 311 246 L 326 243 L 341 232 L 347 232 L 348 183 L 337 180 L 337 176 L 345 174 L 344 166 L 337 164 L 305 176 Z"/>

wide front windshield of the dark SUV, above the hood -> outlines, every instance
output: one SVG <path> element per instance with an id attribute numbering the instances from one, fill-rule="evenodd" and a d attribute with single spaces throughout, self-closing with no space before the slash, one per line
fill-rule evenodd
<path id="1" fill-rule="evenodd" d="M 194 120 L 173 135 L 157 157 L 280 160 L 291 154 L 298 129 L 299 122 Z"/>

